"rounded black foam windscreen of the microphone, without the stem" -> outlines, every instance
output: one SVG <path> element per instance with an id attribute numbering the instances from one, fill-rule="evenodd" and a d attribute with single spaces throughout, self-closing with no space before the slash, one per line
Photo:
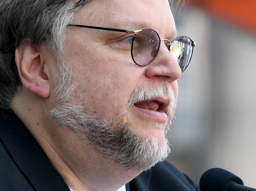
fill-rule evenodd
<path id="1" fill-rule="evenodd" d="M 232 181 L 243 185 L 241 178 L 233 173 L 221 168 L 213 168 L 201 176 L 199 187 L 201 191 L 226 191 L 228 183 Z"/>

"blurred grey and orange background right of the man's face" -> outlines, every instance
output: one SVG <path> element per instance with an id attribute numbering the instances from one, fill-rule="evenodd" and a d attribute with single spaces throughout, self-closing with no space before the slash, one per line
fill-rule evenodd
<path id="1" fill-rule="evenodd" d="M 256 187 L 256 0 L 173 5 L 178 35 L 197 47 L 178 80 L 168 160 L 195 182 L 212 167 Z"/>

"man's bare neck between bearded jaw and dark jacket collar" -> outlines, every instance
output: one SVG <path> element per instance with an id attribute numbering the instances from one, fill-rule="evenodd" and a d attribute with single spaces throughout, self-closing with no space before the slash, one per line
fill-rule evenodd
<path id="1" fill-rule="evenodd" d="M 74 191 L 116 191 L 141 173 L 117 164 L 96 151 L 80 133 L 53 122 L 43 102 L 21 91 L 12 109 Z"/>

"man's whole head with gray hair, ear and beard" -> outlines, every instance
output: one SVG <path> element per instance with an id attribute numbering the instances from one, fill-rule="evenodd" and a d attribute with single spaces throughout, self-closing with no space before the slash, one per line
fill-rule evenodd
<path id="1" fill-rule="evenodd" d="M 69 127 L 80 141 L 119 164 L 148 169 L 170 151 L 166 131 L 178 96 L 177 59 L 161 41 L 153 62 L 141 67 L 131 56 L 133 34 L 69 24 L 130 31 L 149 27 L 172 41 L 176 29 L 169 3 L 87 2 L 0 3 L 0 105 L 11 103 L 19 110 L 11 99 L 21 84 L 23 96 L 17 93 L 14 99 L 26 100 L 24 108 L 38 104 L 33 115 L 44 116 L 57 149 L 68 153 L 57 140 L 59 129 Z"/>

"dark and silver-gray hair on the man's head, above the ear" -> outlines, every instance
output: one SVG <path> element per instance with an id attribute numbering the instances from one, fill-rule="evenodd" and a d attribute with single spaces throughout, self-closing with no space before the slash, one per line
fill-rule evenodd
<path id="1" fill-rule="evenodd" d="M 0 0 L 0 107 L 8 108 L 20 86 L 15 49 L 22 40 L 45 44 L 61 59 L 64 31 L 74 12 L 90 0 Z"/>

